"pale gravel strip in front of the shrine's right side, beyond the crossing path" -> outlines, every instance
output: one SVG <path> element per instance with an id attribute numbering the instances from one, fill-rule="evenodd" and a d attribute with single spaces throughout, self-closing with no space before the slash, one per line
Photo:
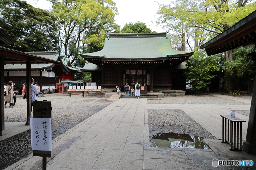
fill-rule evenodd
<path id="1" fill-rule="evenodd" d="M 231 99 L 211 95 L 186 95 L 184 97 L 168 97 L 147 99 L 148 104 L 248 104 Z"/>

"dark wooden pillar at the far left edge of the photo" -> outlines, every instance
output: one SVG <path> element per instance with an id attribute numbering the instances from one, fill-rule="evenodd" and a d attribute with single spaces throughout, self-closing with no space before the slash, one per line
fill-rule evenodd
<path id="1" fill-rule="evenodd" d="M 0 77 L 0 85 L 1 85 L 1 116 L 0 116 L 0 136 L 6 134 L 4 129 L 4 57 L 1 57 L 1 77 Z"/>

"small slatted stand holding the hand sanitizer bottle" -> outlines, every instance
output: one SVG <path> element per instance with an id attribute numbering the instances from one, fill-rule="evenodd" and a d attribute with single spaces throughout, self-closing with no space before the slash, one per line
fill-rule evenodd
<path id="1" fill-rule="evenodd" d="M 222 142 L 221 143 L 228 143 L 231 146 L 231 151 L 242 151 L 242 122 L 246 122 L 245 120 L 239 119 L 236 117 L 236 119 L 230 119 L 229 114 L 222 115 Z M 225 118 L 225 141 L 224 141 L 224 118 Z M 227 120 L 228 120 L 228 126 L 227 126 Z M 229 126 L 230 122 L 230 126 Z M 234 127 L 233 127 L 234 122 Z M 239 140 L 239 122 L 240 122 L 240 140 Z M 236 123 L 237 123 L 237 143 L 236 143 Z M 227 129 L 228 127 L 228 129 Z M 230 128 L 230 136 L 229 136 L 229 128 Z M 233 133 L 234 129 L 234 133 Z M 228 139 L 227 139 L 227 132 L 228 132 Z M 230 137 L 230 140 L 229 140 Z M 233 142 L 234 138 L 234 142 Z M 240 149 L 238 147 L 240 141 Z M 237 144 L 237 146 L 236 146 Z"/>

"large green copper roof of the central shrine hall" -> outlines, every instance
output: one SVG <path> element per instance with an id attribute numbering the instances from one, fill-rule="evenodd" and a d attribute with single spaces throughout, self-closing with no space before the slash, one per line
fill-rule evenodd
<path id="1" fill-rule="evenodd" d="M 138 34 L 138 37 L 135 34 Z M 160 33 L 135 34 L 114 34 L 114 37 L 111 34 L 109 38 L 105 38 L 105 44 L 101 51 L 80 55 L 86 58 L 101 58 L 102 60 L 146 61 L 191 56 L 194 53 L 172 49 L 170 38 L 157 37 Z"/>

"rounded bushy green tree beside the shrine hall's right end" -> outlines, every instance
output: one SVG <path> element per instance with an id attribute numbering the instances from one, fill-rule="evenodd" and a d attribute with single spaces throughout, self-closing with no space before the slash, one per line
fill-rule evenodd
<path id="1" fill-rule="evenodd" d="M 189 71 L 184 72 L 192 90 L 197 91 L 210 84 L 211 78 L 216 75 L 211 75 L 209 72 L 220 70 L 218 62 L 219 58 L 216 55 L 207 56 L 205 50 L 195 51 L 186 63 Z"/>

